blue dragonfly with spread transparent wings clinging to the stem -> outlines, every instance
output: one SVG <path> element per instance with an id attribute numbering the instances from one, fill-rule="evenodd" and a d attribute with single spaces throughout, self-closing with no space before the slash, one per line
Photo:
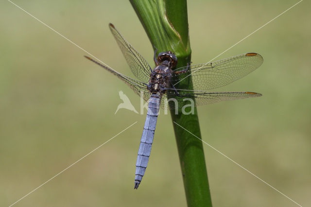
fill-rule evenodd
<path id="1" fill-rule="evenodd" d="M 142 94 L 145 101 L 149 102 L 138 148 L 134 189 L 138 189 L 147 168 L 160 107 L 168 107 L 171 110 L 180 109 L 185 105 L 185 99 L 192 101 L 197 106 L 261 96 L 260 93 L 255 92 L 207 91 L 232 83 L 257 69 L 263 62 L 262 56 L 258 53 L 250 52 L 216 62 L 199 65 L 188 64 L 186 67 L 175 69 L 177 57 L 173 52 L 160 52 L 156 56 L 155 50 L 155 68 L 152 69 L 113 24 L 110 23 L 109 28 L 136 79 L 104 66 L 88 56 L 85 57 L 116 75 L 138 95 Z M 175 85 L 179 82 L 186 83 L 189 88 L 176 88 Z M 190 86 L 191 84 L 192 86 Z M 172 98 L 173 104 L 168 104 Z"/>

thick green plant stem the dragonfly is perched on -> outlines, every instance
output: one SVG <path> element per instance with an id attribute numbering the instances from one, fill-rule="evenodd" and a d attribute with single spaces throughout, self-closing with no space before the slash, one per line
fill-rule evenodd
<path id="1" fill-rule="evenodd" d="M 177 68 L 190 63 L 191 49 L 186 0 L 130 0 L 157 52 L 172 51 L 178 58 Z M 191 89 L 190 78 L 176 85 Z M 207 169 L 197 110 L 184 115 L 179 109 L 171 111 L 175 138 L 188 207 L 211 207 Z M 189 130 L 192 134 L 187 132 Z M 172 184 L 173 185 L 173 184 Z"/>

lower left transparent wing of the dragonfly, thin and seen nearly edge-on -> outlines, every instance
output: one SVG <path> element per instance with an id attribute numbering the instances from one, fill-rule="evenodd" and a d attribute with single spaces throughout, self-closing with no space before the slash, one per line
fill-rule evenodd
<path id="1" fill-rule="evenodd" d="M 120 72 L 117 72 L 116 70 L 114 69 L 111 69 L 111 68 L 108 68 L 102 64 L 100 64 L 99 62 L 93 60 L 92 58 L 90 57 L 87 57 L 85 56 L 87 59 L 89 59 L 90 61 L 96 63 L 97 65 L 103 67 L 104 69 L 108 70 L 109 72 L 113 73 L 114 75 L 118 76 L 118 78 L 120 78 L 122 81 L 124 81 L 128 86 L 130 86 L 134 91 L 135 93 L 137 93 L 138 95 L 140 95 L 141 93 L 143 94 L 147 94 L 149 93 L 148 89 L 147 89 L 147 84 L 145 83 L 142 83 L 138 80 L 135 80 L 134 78 L 130 78 L 126 75 L 123 75 L 121 74 Z M 144 95 L 145 97 L 146 95 Z M 145 99 L 145 98 L 144 98 Z"/>

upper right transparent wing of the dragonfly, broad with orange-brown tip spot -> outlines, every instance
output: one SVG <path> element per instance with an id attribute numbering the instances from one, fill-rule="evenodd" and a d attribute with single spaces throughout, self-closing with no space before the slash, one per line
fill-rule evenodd
<path id="1" fill-rule="evenodd" d="M 263 58 L 257 53 L 245 53 L 207 64 L 192 65 L 176 69 L 172 74 L 172 84 L 190 84 L 192 77 L 194 90 L 210 90 L 230 84 L 257 69 Z"/>

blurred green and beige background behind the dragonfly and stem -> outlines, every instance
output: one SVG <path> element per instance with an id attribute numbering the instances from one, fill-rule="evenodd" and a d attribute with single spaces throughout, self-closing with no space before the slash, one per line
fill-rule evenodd
<path id="1" fill-rule="evenodd" d="M 108 29 L 112 22 L 154 66 L 151 44 L 127 0 L 14 2 L 133 77 Z M 214 58 L 296 2 L 189 1 L 192 62 Z M 138 111 L 139 97 L 9 1 L 0 5 L 0 206 L 138 121 L 15 206 L 185 207 L 170 115 L 160 112 L 148 169 L 133 190 L 146 111 L 114 113 L 120 90 Z M 261 54 L 259 69 L 218 91 L 262 97 L 198 107 L 203 140 L 302 206 L 311 206 L 310 7 L 302 1 L 217 58 Z M 296 206 L 207 145 L 205 155 L 213 206 Z"/>

